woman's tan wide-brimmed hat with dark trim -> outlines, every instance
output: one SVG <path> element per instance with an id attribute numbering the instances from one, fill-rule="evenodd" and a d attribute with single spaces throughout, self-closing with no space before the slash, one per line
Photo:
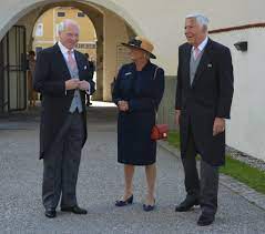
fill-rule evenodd
<path id="1" fill-rule="evenodd" d="M 152 53 L 154 45 L 145 38 L 135 37 L 131 39 L 128 43 L 122 43 L 122 45 L 143 50 L 150 54 L 150 58 L 156 59 L 156 57 Z"/>

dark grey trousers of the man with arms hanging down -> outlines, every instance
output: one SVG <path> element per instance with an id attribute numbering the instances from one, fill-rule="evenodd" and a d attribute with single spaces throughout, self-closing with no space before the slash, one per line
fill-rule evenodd
<path id="1" fill-rule="evenodd" d="M 215 215 L 217 211 L 218 166 L 212 166 L 202 159 L 200 179 L 196 167 L 197 153 L 200 154 L 195 145 L 192 128 L 190 126 L 187 150 L 182 157 L 187 197 L 200 200 L 204 214 Z"/>

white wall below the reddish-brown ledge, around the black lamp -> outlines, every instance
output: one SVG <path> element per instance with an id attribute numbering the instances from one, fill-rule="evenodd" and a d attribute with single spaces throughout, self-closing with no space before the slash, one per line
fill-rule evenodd
<path id="1" fill-rule="evenodd" d="M 265 29 L 247 29 L 211 35 L 231 48 L 235 91 L 227 144 L 265 160 Z M 247 41 L 247 52 L 234 43 Z"/>

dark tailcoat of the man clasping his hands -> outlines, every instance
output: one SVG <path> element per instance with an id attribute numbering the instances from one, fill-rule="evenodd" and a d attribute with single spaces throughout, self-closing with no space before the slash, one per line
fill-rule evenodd
<path id="1" fill-rule="evenodd" d="M 79 79 L 86 80 L 94 92 L 94 82 L 90 77 L 86 58 L 74 51 L 74 57 L 79 68 Z M 67 62 L 58 44 L 44 49 L 38 53 L 34 90 L 42 94 L 41 124 L 40 124 L 40 157 L 42 159 L 49 151 L 52 142 L 57 138 L 64 123 L 73 99 L 74 90 L 65 92 L 65 81 L 71 79 Z M 85 92 L 80 91 L 83 105 L 84 139 L 86 140 L 86 114 L 85 114 Z"/>

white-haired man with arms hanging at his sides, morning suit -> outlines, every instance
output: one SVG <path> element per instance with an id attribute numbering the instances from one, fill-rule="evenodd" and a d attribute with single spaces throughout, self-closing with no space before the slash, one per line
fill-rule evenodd
<path id="1" fill-rule="evenodd" d="M 175 211 L 200 204 L 201 226 L 212 224 L 217 210 L 218 166 L 225 163 L 225 119 L 230 119 L 234 91 L 230 49 L 208 38 L 207 23 L 202 14 L 186 17 L 187 43 L 179 49 L 175 100 L 187 193 Z M 197 153 L 202 157 L 201 180 Z"/>

